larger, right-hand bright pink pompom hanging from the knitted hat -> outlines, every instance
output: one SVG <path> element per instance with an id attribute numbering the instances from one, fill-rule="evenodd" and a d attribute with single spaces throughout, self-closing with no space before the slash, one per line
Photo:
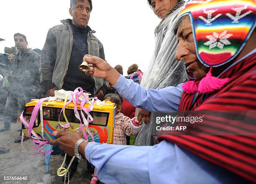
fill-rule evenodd
<path id="1" fill-rule="evenodd" d="M 228 81 L 229 81 L 229 78 L 219 79 L 217 77 L 212 77 L 212 67 L 210 67 L 209 72 L 199 82 L 198 92 L 209 93 L 209 92 L 213 92 L 215 90 L 219 90 Z"/>

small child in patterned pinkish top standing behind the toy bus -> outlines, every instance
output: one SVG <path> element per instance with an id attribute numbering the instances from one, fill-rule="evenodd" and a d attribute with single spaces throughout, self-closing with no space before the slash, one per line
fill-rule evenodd
<path id="1" fill-rule="evenodd" d="M 104 101 L 110 101 L 115 103 L 115 127 L 113 130 L 113 143 L 117 145 L 126 145 L 126 136 L 136 135 L 141 129 L 141 124 L 134 117 L 130 119 L 125 116 L 122 111 L 121 100 L 118 94 L 107 94 L 104 97 Z M 97 169 L 92 174 L 92 180 L 90 184 L 96 184 L 98 181 Z"/>

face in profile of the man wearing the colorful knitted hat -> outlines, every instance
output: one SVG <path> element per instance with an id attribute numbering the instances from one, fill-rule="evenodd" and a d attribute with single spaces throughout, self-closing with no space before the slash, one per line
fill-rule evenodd
<path id="1" fill-rule="evenodd" d="M 197 59 L 189 17 L 182 19 L 176 36 L 179 41 L 175 55 L 176 60 L 184 60 L 189 75 L 201 80 L 205 77 L 209 68 L 202 65 Z"/>

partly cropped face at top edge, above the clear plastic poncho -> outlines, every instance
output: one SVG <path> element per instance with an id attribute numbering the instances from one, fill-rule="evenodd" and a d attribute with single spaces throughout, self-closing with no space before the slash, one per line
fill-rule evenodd
<path id="1" fill-rule="evenodd" d="M 178 0 L 151 0 L 151 7 L 154 14 L 162 19 L 177 3 Z"/>

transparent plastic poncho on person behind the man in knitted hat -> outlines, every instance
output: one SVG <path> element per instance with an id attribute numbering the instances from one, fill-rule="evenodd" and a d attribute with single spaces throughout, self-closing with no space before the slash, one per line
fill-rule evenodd
<path id="1" fill-rule="evenodd" d="M 181 7 L 174 10 L 156 28 L 155 50 L 148 69 L 143 74 L 142 87 L 156 89 L 177 86 L 187 80 L 184 62 L 175 60 L 178 42 L 173 29 L 180 9 Z M 136 109 L 136 116 L 138 111 L 139 109 Z M 156 144 L 156 135 L 153 134 L 153 129 L 156 129 L 156 117 L 165 115 L 168 115 L 168 113 L 152 112 L 151 122 L 143 124 L 134 145 L 148 146 Z"/>

